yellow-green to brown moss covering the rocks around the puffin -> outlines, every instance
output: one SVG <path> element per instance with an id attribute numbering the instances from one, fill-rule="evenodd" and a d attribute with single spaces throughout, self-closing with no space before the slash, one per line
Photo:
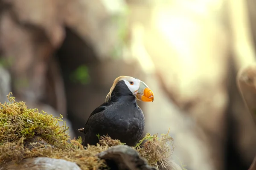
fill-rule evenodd
<path id="1" fill-rule="evenodd" d="M 62 116 L 54 117 L 43 111 L 39 113 L 37 109 L 29 109 L 25 102 L 15 102 L 10 94 L 10 102 L 0 103 L 0 166 L 8 161 L 19 163 L 26 158 L 44 156 L 73 161 L 82 170 L 94 170 L 107 167 L 105 161 L 96 156 L 97 153 L 124 144 L 109 136 L 98 136 L 99 144 L 88 145 L 84 149 L 81 137 L 70 141 L 68 127 L 65 123 L 59 125 Z M 170 167 L 167 158 L 171 156 L 173 146 L 173 139 L 168 133 L 160 138 L 157 134 L 151 136 L 147 133 L 134 149 L 148 164 L 158 169 L 160 166 Z"/>

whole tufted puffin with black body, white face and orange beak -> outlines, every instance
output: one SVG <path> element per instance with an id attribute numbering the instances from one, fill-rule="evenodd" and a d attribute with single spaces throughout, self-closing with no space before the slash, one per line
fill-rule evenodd
<path id="1" fill-rule="evenodd" d="M 145 127 L 145 117 L 137 100 L 154 101 L 154 94 L 148 85 L 134 77 L 117 77 L 105 102 L 94 109 L 84 125 L 83 146 L 96 145 L 98 136 L 104 135 L 134 146 Z"/>

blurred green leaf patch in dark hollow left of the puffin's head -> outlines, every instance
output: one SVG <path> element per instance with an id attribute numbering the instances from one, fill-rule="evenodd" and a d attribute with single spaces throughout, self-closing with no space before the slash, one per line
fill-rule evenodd
<path id="1" fill-rule="evenodd" d="M 86 65 L 80 65 L 70 74 L 70 80 L 72 82 L 79 82 L 86 85 L 90 82 L 89 69 Z"/>

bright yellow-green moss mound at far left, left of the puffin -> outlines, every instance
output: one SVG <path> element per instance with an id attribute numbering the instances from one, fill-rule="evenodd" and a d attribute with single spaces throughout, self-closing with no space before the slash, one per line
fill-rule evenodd
<path id="1" fill-rule="evenodd" d="M 11 93 L 10 93 L 11 94 Z M 25 102 L 15 102 L 15 97 L 7 96 L 10 103 L 0 103 L 0 144 L 18 142 L 33 136 L 40 136 L 53 147 L 66 147 L 69 136 L 65 122 L 60 126 L 62 116 L 53 117 L 38 109 L 29 109 Z"/>

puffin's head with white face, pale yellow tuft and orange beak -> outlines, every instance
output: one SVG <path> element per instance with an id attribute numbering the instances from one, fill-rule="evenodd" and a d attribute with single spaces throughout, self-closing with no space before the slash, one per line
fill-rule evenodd
<path id="1" fill-rule="evenodd" d="M 140 79 L 129 76 L 117 77 L 108 95 L 106 96 L 106 102 L 111 99 L 111 94 L 114 92 L 119 95 L 134 95 L 136 99 L 142 102 L 153 102 L 154 94 L 148 88 L 148 85 Z"/>

